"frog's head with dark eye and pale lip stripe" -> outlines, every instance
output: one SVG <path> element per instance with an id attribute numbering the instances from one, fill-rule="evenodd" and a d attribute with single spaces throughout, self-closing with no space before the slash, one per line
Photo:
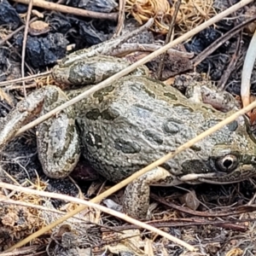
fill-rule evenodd
<path id="1" fill-rule="evenodd" d="M 224 126 L 191 147 L 196 157 L 183 161 L 185 183 L 236 183 L 256 177 L 254 137 L 244 119 Z"/>

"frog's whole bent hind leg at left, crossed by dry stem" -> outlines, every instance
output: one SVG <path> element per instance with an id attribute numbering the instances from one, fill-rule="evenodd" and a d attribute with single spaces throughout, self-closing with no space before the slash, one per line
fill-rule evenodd
<path id="1" fill-rule="evenodd" d="M 0 122 L 0 148 L 37 113 L 47 113 L 67 101 L 56 86 L 33 91 Z M 37 127 L 38 156 L 49 177 L 67 177 L 79 160 L 79 135 L 73 107 L 66 108 Z"/>

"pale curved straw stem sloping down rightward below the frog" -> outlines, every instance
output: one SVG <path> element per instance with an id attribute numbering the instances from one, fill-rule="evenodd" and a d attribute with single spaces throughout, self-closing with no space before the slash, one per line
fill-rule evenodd
<path id="1" fill-rule="evenodd" d="M 5 188 L 5 189 L 12 189 L 12 190 L 17 190 L 17 191 L 25 192 L 25 193 L 27 193 L 29 195 L 41 195 L 41 196 L 51 197 L 51 198 L 56 198 L 56 199 L 61 199 L 61 200 L 64 199 L 64 200 L 67 200 L 67 201 L 72 201 L 72 202 L 84 205 L 83 206 L 84 208 L 85 207 L 93 207 L 93 208 L 95 208 L 97 210 L 100 210 L 102 212 L 106 212 L 108 214 L 111 214 L 111 215 L 113 215 L 113 216 L 115 216 L 117 218 L 124 219 L 125 221 L 130 222 L 131 224 L 135 224 L 135 225 L 137 225 L 139 227 L 142 227 L 143 229 L 150 230 L 150 231 L 152 231 L 152 232 L 154 232 L 154 233 L 156 233 L 156 234 L 158 234 L 160 236 L 164 236 L 167 239 L 169 239 L 170 241 L 173 241 L 173 242 L 177 243 L 180 246 L 186 247 L 191 252 L 195 251 L 195 247 L 190 246 L 188 243 L 186 243 L 184 241 L 181 241 L 181 240 L 177 239 L 176 237 L 171 236 L 171 235 L 167 234 L 166 232 L 164 232 L 162 230 L 158 230 L 158 229 L 154 228 L 153 226 L 151 226 L 149 224 L 144 224 L 141 221 L 138 221 L 136 219 L 130 218 L 130 217 L 128 217 L 124 213 L 116 212 L 116 211 L 113 211 L 111 209 L 108 209 L 107 207 L 102 207 L 100 205 L 97 205 L 96 203 L 93 203 L 92 201 L 84 201 L 84 200 L 81 200 L 81 199 L 78 199 L 78 198 L 74 198 L 74 197 L 69 196 L 69 195 L 60 195 L 60 194 L 56 194 L 56 193 L 49 193 L 49 192 L 44 192 L 44 191 L 39 191 L 39 190 L 34 190 L 34 189 L 27 189 L 27 188 L 23 188 L 23 187 L 20 187 L 20 186 L 11 185 L 11 184 L 8 184 L 8 183 L 0 183 L 0 187 L 1 188 Z M 1 202 L 4 202 L 4 200 L 1 200 Z M 35 235 L 37 233 L 38 232 L 34 233 L 33 235 Z M 23 241 L 26 241 L 29 237 L 30 236 L 26 237 L 26 239 L 23 240 Z M 28 240 L 28 241 L 30 241 L 30 240 Z M 26 241 L 26 242 L 28 242 L 28 241 Z M 17 248 L 17 245 L 19 243 L 17 243 L 14 247 L 10 247 L 6 252 L 11 252 L 15 248 Z M 18 246 L 18 247 L 20 247 L 20 246 Z"/>

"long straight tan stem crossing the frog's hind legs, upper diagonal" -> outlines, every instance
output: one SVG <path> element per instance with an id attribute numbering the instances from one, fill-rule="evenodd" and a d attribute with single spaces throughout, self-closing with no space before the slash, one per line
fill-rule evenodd
<path id="1" fill-rule="evenodd" d="M 137 67 L 142 66 L 146 62 L 153 60 L 158 55 L 164 53 L 167 49 L 169 49 L 169 48 L 171 48 L 171 47 L 173 47 L 177 44 L 183 43 L 183 41 L 193 37 L 198 32 L 201 32 L 203 29 L 207 28 L 208 26 L 211 26 L 212 24 L 216 23 L 218 20 L 223 19 L 225 16 L 230 15 L 231 13 L 236 11 L 237 9 L 240 9 L 241 7 L 247 5 L 248 3 L 251 3 L 251 2 L 253 2 L 253 0 L 242 0 L 241 2 L 234 4 L 229 9 L 224 10 L 224 12 L 212 17 L 212 19 L 207 20 L 205 23 L 201 24 L 200 26 L 196 26 L 194 29 L 192 29 L 191 31 L 183 34 L 181 37 L 173 40 L 171 43 L 166 44 L 165 46 L 161 47 L 160 49 L 155 50 L 150 55 L 144 57 L 143 59 L 141 59 L 137 62 L 135 62 L 131 66 L 126 67 L 124 70 L 120 71 L 119 73 L 114 74 L 112 77 L 104 80 L 102 83 L 97 84 L 94 87 L 90 88 L 90 90 L 84 91 L 84 93 L 80 94 L 79 96 L 74 97 L 73 99 L 71 99 L 68 102 L 62 104 L 58 108 L 55 108 L 55 109 L 51 110 L 49 113 L 46 113 L 43 116 L 39 117 L 38 119 L 35 119 L 31 123 L 29 123 L 28 125 L 25 125 L 19 131 L 17 131 L 16 136 L 19 135 L 20 133 L 34 127 L 35 125 L 38 125 L 38 124 L 42 123 L 44 120 L 49 119 L 49 117 L 51 117 L 55 113 L 61 111 L 62 109 L 67 108 L 67 107 L 73 105 L 76 102 L 79 102 L 80 100 L 84 99 L 84 97 L 89 96 L 89 95 L 95 93 L 97 90 L 100 90 L 100 89 L 108 86 L 108 84 L 112 84 L 114 81 L 120 79 L 121 77 L 125 76 L 126 74 L 131 73 Z"/>

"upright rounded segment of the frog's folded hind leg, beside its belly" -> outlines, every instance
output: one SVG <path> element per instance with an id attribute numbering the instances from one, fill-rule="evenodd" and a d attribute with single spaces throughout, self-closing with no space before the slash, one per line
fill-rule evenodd
<path id="1" fill-rule="evenodd" d="M 65 93 L 56 86 L 48 86 L 41 114 L 67 102 Z M 73 171 L 80 155 L 79 134 L 75 125 L 73 106 L 65 108 L 37 127 L 38 157 L 44 173 L 61 178 Z"/>

